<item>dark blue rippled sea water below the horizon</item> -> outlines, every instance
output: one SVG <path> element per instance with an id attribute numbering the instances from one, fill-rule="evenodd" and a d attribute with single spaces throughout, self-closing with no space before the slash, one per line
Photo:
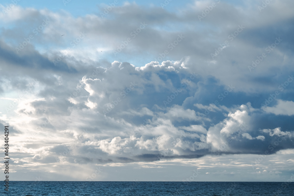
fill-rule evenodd
<path id="1" fill-rule="evenodd" d="M 10 181 L 0 195 L 294 195 L 294 182 Z"/>

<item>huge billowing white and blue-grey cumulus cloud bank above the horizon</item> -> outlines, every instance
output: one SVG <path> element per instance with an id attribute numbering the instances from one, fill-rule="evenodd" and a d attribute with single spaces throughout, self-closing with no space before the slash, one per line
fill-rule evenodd
<path id="1" fill-rule="evenodd" d="M 63 150 L 61 154 L 56 152 L 57 155 L 54 155 L 50 154 L 49 149 L 42 156 L 37 153 L 32 161 L 74 163 L 82 156 L 90 162 L 127 163 L 215 153 L 261 153 L 266 150 L 270 138 L 260 135 L 255 128 L 260 127 L 260 122 L 255 122 L 255 116 L 261 115 L 262 110 L 253 108 L 250 102 L 229 108 L 204 105 L 203 102 L 194 103 L 191 108 L 180 105 L 188 98 L 195 98 L 195 94 L 190 92 L 197 91 L 203 85 L 202 78 L 186 83 L 186 88 L 178 93 L 172 105 L 164 107 L 163 101 L 170 92 L 191 76 L 189 68 L 184 68 L 183 63 L 184 60 L 164 62 L 161 66 L 151 63 L 148 69 L 137 69 L 130 63 L 114 61 L 106 68 L 89 67 L 75 82 L 66 82 L 70 87 L 63 84 L 64 80 L 60 83 L 61 77 L 53 73 L 49 77 L 50 83 L 38 81 L 36 92 L 39 94 L 36 97 L 39 98 L 27 100 L 25 105 L 16 105 L 15 111 L 30 119 L 28 128 L 42 124 L 34 119 L 38 119 L 38 115 L 46 115 L 49 123 L 42 127 L 46 132 L 36 132 L 35 137 L 45 141 L 45 137 L 52 138 L 49 135 L 59 130 L 60 141 L 66 138 L 66 143 L 61 144 L 70 145 L 71 150 L 70 153 Z M 166 69 L 171 65 L 176 69 Z M 94 76 L 93 70 L 99 72 Z M 70 78 L 70 74 L 63 72 L 62 78 Z M 174 79 L 171 81 L 169 77 Z M 217 81 L 211 84 L 220 85 Z M 151 98 L 154 96 L 156 99 Z M 59 106 L 58 109 L 53 111 L 56 106 Z M 212 113 L 203 114 L 203 110 L 213 111 L 217 118 L 211 118 Z M 63 121 L 67 123 L 61 123 Z M 21 124 L 19 122 L 18 127 Z M 262 129 L 261 133 L 285 135 L 285 146 L 280 145 L 273 152 L 293 146 L 288 143 L 292 131 L 273 128 Z M 248 140 L 255 145 L 248 143 Z M 48 142 L 48 145 L 53 145 L 52 150 L 56 149 L 55 144 Z M 40 148 L 38 145 L 36 147 Z M 81 154 L 83 151 L 87 153 Z M 62 155 L 64 152 L 66 155 Z"/>

